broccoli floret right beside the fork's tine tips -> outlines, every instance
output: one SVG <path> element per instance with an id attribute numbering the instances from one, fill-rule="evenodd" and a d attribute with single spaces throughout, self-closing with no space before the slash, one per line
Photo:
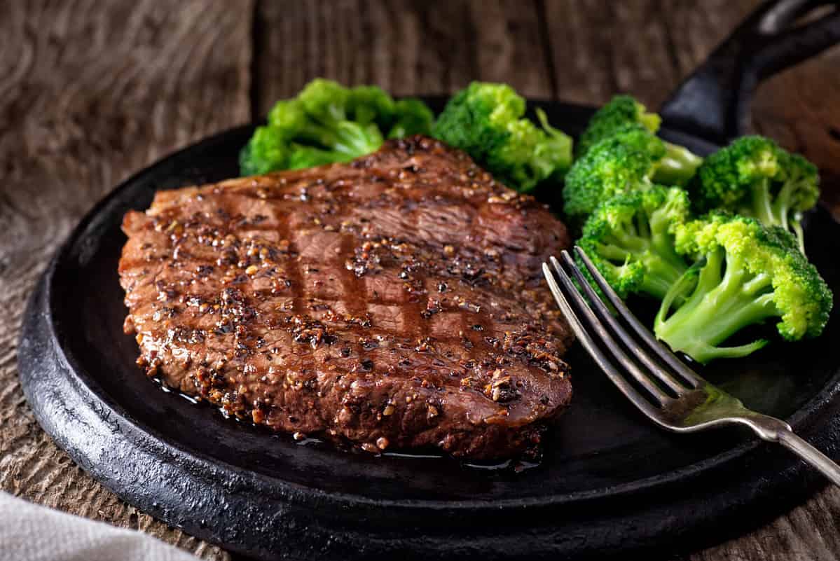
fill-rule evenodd
<path id="1" fill-rule="evenodd" d="M 674 246 L 689 207 L 678 187 L 621 193 L 591 214 L 578 245 L 622 298 L 641 292 L 662 300 L 689 267 Z"/>

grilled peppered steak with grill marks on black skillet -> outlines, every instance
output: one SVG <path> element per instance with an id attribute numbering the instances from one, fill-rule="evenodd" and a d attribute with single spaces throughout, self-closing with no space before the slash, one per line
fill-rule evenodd
<path id="1" fill-rule="evenodd" d="M 123 231 L 138 364 L 230 416 L 496 459 L 538 448 L 570 401 L 540 269 L 566 228 L 436 140 L 158 191 Z"/>

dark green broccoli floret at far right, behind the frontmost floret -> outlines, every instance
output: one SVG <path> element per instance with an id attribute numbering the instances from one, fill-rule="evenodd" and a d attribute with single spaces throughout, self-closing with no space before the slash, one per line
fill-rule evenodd
<path id="1" fill-rule="evenodd" d="M 819 183 L 816 166 L 801 155 L 744 136 L 706 158 L 689 189 L 699 212 L 725 208 L 791 230 L 804 251 L 801 214 L 816 205 Z"/>

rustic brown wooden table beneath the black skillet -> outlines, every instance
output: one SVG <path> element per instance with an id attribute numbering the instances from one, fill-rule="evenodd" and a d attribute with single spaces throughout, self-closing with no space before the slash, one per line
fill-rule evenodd
<path id="1" fill-rule="evenodd" d="M 472 79 L 526 96 L 658 107 L 753 0 L 119 0 L 0 3 L 0 489 L 199 557 L 215 546 L 119 501 L 55 447 L 18 384 L 24 301 L 92 204 L 134 171 L 265 114 L 315 76 L 394 94 Z M 840 209 L 840 49 L 760 89 L 754 128 L 804 152 Z M 687 558 L 840 559 L 840 490 Z M 666 558 L 684 558 L 666 556 Z"/>

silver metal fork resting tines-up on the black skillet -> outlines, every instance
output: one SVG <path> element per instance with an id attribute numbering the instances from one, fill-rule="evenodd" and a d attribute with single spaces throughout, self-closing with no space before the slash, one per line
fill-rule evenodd
<path id="1" fill-rule="evenodd" d="M 549 288 L 592 359 L 651 421 L 675 433 L 695 433 L 727 424 L 746 425 L 760 438 L 790 449 L 835 485 L 840 485 L 840 466 L 796 436 L 788 423 L 749 410 L 736 397 L 703 380 L 633 316 L 583 249 L 575 246 L 575 252 L 616 310 L 617 317 L 601 301 L 567 251 L 560 256 L 562 265 L 554 257 L 550 258 L 559 284 L 549 265 L 543 263 Z M 585 298 L 568 271 L 582 287 Z M 584 322 L 590 328 L 585 328 Z"/>

